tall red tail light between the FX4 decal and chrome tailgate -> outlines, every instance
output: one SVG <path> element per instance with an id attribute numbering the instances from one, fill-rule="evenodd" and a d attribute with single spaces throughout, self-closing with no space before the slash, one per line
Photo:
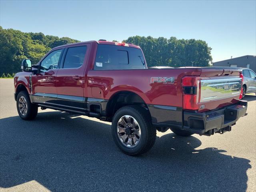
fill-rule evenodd
<path id="1" fill-rule="evenodd" d="M 182 78 L 183 109 L 198 110 L 200 79 L 196 76 Z"/>

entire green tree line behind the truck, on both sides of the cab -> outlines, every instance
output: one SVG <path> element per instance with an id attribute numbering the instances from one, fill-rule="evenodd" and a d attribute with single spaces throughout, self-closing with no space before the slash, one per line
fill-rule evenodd
<path id="1" fill-rule="evenodd" d="M 26 33 L 0 26 L 0 74 L 13 76 L 20 71 L 23 59 L 30 58 L 36 64 L 52 48 L 76 42 L 79 41 L 68 37 Z M 194 66 L 209 66 L 212 62 L 211 48 L 203 40 L 132 36 L 123 42 L 139 45 L 148 66 L 180 67 L 191 66 L 192 62 Z"/>

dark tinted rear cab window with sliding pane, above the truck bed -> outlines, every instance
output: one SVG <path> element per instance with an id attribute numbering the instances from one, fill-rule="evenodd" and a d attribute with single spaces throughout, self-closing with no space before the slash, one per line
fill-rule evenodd
<path id="1" fill-rule="evenodd" d="M 145 60 L 140 49 L 116 45 L 98 45 L 94 70 L 145 68 Z"/>

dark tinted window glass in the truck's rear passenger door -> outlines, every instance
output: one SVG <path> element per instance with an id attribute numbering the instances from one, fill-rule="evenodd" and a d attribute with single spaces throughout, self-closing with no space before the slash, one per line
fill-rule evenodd
<path id="1" fill-rule="evenodd" d="M 79 68 L 84 63 L 87 46 L 68 48 L 63 68 Z"/>

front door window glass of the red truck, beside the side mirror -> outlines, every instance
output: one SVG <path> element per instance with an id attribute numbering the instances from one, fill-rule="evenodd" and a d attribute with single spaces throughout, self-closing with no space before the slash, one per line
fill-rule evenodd
<path id="1" fill-rule="evenodd" d="M 41 62 L 40 73 L 46 72 L 50 69 L 57 69 L 62 49 L 51 52 Z"/>

